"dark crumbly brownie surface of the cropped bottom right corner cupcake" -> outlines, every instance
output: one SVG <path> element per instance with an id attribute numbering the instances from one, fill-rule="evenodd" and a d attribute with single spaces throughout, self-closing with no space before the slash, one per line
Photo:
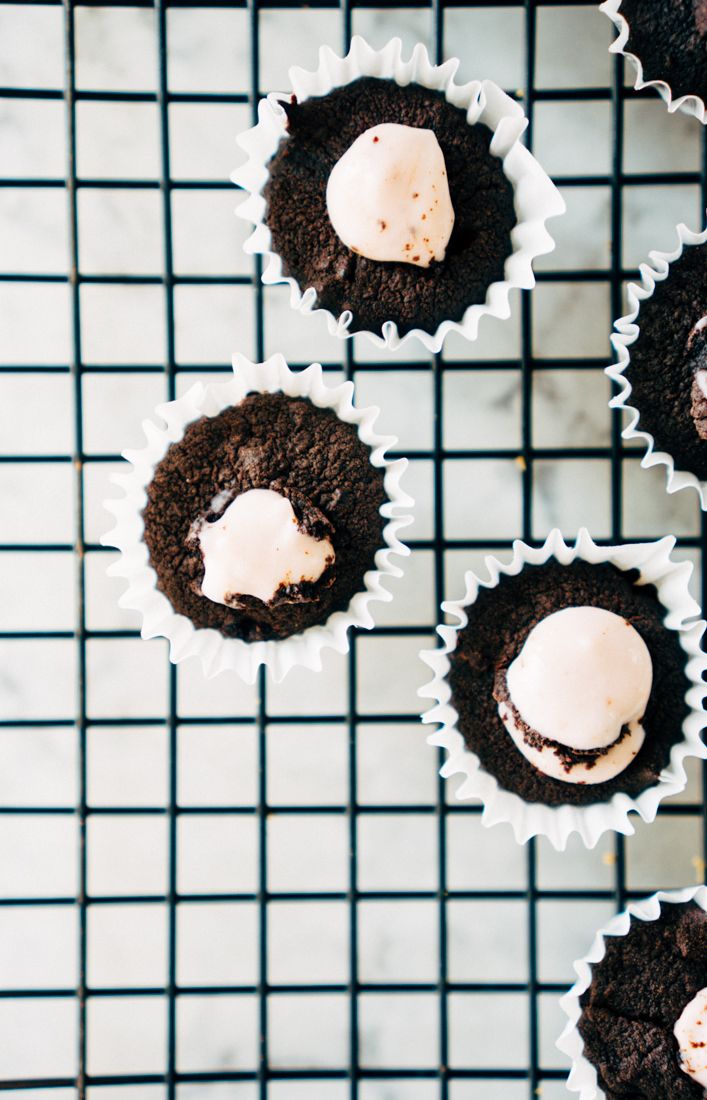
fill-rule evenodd
<path id="1" fill-rule="evenodd" d="M 607 1100 L 703 1100 L 680 1067 L 673 1027 L 707 986 L 707 914 L 663 904 L 658 921 L 631 919 L 626 936 L 607 936 L 581 998 L 579 1034 Z"/>

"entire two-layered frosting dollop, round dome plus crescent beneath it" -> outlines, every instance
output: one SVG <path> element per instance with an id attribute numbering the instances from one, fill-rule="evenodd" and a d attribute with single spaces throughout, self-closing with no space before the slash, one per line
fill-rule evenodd
<path id="1" fill-rule="evenodd" d="M 501 701 L 498 710 L 517 748 L 544 774 L 603 783 L 643 744 L 652 682 L 651 656 L 630 623 L 603 607 L 565 607 L 528 635 L 506 676 L 512 706 Z M 524 726 L 570 751 L 599 755 L 567 767 L 552 745 L 529 744 Z"/>

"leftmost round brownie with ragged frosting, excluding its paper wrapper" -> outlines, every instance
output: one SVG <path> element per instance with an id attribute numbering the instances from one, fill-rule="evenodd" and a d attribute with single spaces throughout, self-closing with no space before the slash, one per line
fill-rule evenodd
<path id="1" fill-rule="evenodd" d="M 253 393 L 192 421 L 146 492 L 157 587 L 227 638 L 288 638 L 345 610 L 384 546 L 384 471 L 308 398 Z"/>

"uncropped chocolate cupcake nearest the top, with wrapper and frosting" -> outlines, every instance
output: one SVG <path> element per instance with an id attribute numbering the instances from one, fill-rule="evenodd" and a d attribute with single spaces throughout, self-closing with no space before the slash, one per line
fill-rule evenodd
<path id="1" fill-rule="evenodd" d="M 545 222 L 565 205 L 521 144 L 528 120 L 490 80 L 456 84 L 457 68 L 421 44 L 405 61 L 399 38 L 373 50 L 356 36 L 345 57 L 324 46 L 239 138 L 246 252 L 338 337 L 389 349 L 417 337 L 431 352 L 450 332 L 475 340 L 554 248 Z"/>

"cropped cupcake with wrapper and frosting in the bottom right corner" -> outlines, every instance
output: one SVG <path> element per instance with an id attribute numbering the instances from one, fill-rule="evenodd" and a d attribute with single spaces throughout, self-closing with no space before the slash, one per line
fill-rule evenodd
<path id="1" fill-rule="evenodd" d="M 574 964 L 557 1048 L 579 1100 L 703 1100 L 707 1092 L 707 888 L 631 902 Z"/>

